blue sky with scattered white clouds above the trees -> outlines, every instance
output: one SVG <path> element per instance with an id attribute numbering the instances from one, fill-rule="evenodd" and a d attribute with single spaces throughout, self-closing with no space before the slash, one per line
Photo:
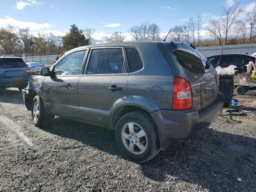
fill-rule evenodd
<path id="1" fill-rule="evenodd" d="M 241 18 L 256 11 L 255 1 L 239 2 L 245 11 Z M 156 23 L 161 36 L 198 14 L 206 26 L 208 20 L 221 16 L 222 6 L 230 6 L 234 0 L 0 0 L 0 3 L 0 27 L 29 27 L 34 35 L 44 31 L 63 36 L 71 24 L 76 24 L 80 29 L 95 28 L 93 37 L 99 43 L 115 31 L 123 32 L 126 40 L 131 40 L 127 30 L 145 21 Z M 205 30 L 200 35 L 208 37 Z"/>

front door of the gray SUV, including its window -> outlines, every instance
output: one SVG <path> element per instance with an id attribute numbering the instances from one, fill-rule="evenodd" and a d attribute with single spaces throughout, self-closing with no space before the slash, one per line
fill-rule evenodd
<path id="1" fill-rule="evenodd" d="M 43 92 L 48 112 L 78 118 L 78 80 L 82 76 L 85 58 L 86 50 L 71 52 L 56 63 L 52 69 L 55 75 L 44 80 Z"/>

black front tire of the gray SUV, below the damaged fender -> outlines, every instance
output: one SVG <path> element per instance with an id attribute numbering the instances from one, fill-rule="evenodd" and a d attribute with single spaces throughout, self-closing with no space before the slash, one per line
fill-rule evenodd
<path id="1" fill-rule="evenodd" d="M 34 111 L 35 111 L 35 103 L 37 103 L 39 105 L 39 115 L 36 115 L 36 117 L 34 116 Z M 43 100 L 40 96 L 35 96 L 32 102 L 32 108 L 31 108 L 31 117 L 32 117 L 32 122 L 34 123 L 34 125 L 36 127 L 43 127 L 46 126 L 50 123 L 50 119 L 53 117 L 54 115 L 50 115 L 50 114 L 46 114 L 44 112 L 44 106 L 43 106 Z"/>

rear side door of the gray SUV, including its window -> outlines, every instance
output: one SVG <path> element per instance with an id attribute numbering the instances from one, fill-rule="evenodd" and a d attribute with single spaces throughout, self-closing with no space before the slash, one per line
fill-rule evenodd
<path id="1" fill-rule="evenodd" d="M 127 96 L 128 73 L 122 47 L 92 48 L 78 82 L 80 118 L 110 125 L 110 114 Z"/>

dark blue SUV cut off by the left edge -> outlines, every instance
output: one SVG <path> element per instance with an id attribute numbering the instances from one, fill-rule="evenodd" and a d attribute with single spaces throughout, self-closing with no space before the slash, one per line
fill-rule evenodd
<path id="1" fill-rule="evenodd" d="M 30 69 L 20 57 L 0 56 L 0 89 L 17 87 L 20 91 L 28 84 Z"/>

